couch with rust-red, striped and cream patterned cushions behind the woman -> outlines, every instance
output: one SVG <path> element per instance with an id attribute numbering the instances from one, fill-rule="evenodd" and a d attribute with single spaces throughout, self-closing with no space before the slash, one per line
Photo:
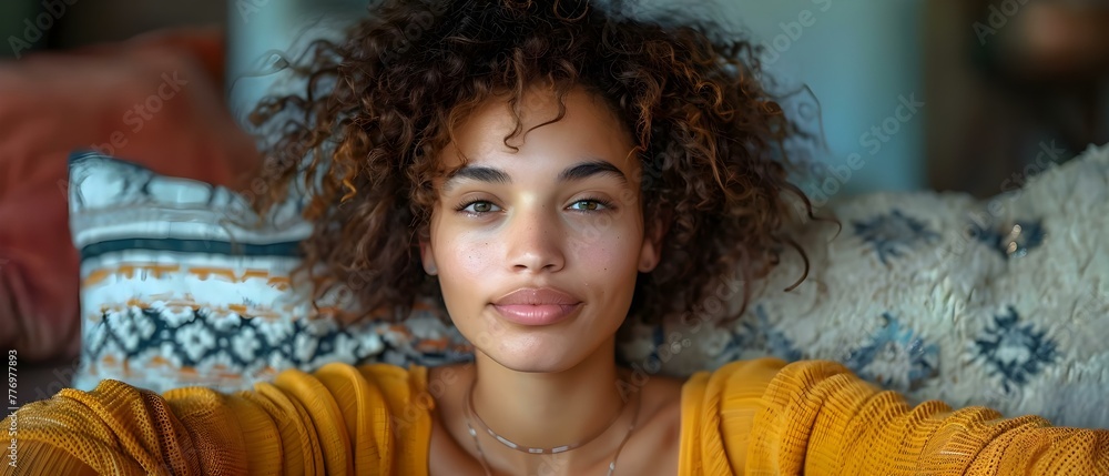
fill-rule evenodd
<path id="1" fill-rule="evenodd" d="M 335 361 L 470 358 L 468 343 L 430 304 L 403 324 L 356 325 L 309 305 L 287 280 L 295 254 L 277 246 L 307 235 L 287 207 L 274 234 L 228 225 L 228 210 L 246 213 L 236 191 L 256 153 L 218 99 L 220 41 L 211 31 L 163 33 L 0 67 L 0 97 L 22 97 L 17 107 L 0 101 L 0 216 L 18 224 L 0 232 L 0 340 L 27 362 L 62 358 L 40 384 L 45 392 L 22 398 L 63 384 L 88 389 L 101 378 L 234 391 Z M 150 129 L 124 129 L 128 111 L 174 71 L 192 81 L 182 95 L 162 101 Z M 73 98 L 51 99 L 73 88 Z M 42 98 L 57 105 L 35 107 Z M 63 109 L 70 112 L 44 112 Z M 126 145 L 108 150 L 115 132 Z M 69 155 L 67 168 L 72 150 L 84 152 Z M 121 185 L 119 176 L 129 179 Z M 811 264 L 798 287 L 783 291 L 803 267 L 787 253 L 753 283 L 739 320 L 632 323 L 620 357 L 637 372 L 669 375 L 761 355 L 828 358 L 916 401 L 1109 427 L 1109 257 L 1098 240 L 1109 232 L 1109 149 L 1015 179 L 988 201 L 920 192 L 822 203 L 818 213 L 842 227 L 813 221 L 791 230 Z M 152 226 L 160 221 L 167 224 Z M 113 223 L 126 226 L 105 227 Z M 102 246 L 182 239 L 208 247 L 134 254 L 141 247 Z M 235 243 L 262 251 L 250 260 L 214 251 Z M 734 284 L 691 311 L 736 308 Z M 348 304 L 349 295 L 330 303 Z"/>

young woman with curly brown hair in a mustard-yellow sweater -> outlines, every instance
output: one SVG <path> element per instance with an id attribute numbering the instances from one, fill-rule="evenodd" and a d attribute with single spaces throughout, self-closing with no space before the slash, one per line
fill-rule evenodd
<path id="1" fill-rule="evenodd" d="M 322 292 L 357 273 L 368 310 L 441 296 L 475 362 L 65 389 L 4 422 L 4 474 L 1109 474 L 1109 432 L 913 408 L 834 363 L 617 365 L 625 320 L 699 307 L 790 244 L 793 129 L 746 45 L 706 31 L 583 2 L 375 8 L 317 50 L 307 94 L 261 110 L 305 114 L 281 122 L 271 198 L 314 185 Z M 282 166 L 305 146 L 304 175 Z"/>

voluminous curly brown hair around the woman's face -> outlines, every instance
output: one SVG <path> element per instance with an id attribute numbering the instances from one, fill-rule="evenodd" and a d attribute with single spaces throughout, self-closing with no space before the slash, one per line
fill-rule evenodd
<path id="1" fill-rule="evenodd" d="M 315 229 L 301 270 L 317 297 L 345 284 L 362 315 L 396 318 L 419 296 L 441 297 L 418 253 L 433 180 L 445 173 L 438 152 L 477 104 L 507 93 L 516 110 L 536 82 L 553 84 L 560 104 L 576 87 L 602 98 L 638 144 L 644 216 L 667 220 L 662 260 L 639 276 L 631 315 L 696 308 L 736 278 L 745 304 L 785 245 L 804 256 L 781 233 L 786 192 L 812 217 L 784 160 L 798 128 L 761 84 L 757 49 L 714 38 L 723 30 L 712 23 L 667 26 L 627 11 L 587 1 L 386 0 L 344 42 L 313 43 L 295 67 L 307 89 L 266 99 L 254 121 L 277 131 L 265 148 L 260 210 L 296 180 L 311 192 L 304 213 Z"/>

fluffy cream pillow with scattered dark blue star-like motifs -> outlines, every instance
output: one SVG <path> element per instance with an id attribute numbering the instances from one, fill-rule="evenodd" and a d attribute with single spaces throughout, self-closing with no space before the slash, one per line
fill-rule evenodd
<path id="1" fill-rule="evenodd" d="M 873 193 L 830 203 L 755 283 L 746 314 L 644 327 L 633 367 L 688 375 L 765 355 L 845 364 L 913 401 L 1109 428 L 1109 146 L 1034 164 L 978 201 Z M 739 286 L 716 302 L 732 306 Z M 698 310 L 693 310 L 698 311 Z"/>

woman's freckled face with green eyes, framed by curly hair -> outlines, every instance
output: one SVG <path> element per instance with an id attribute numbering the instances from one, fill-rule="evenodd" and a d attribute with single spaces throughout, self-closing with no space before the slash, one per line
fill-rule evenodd
<path id="1" fill-rule="evenodd" d="M 439 277 L 459 331 L 481 353 L 520 372 L 568 369 L 611 342 L 638 272 L 659 260 L 645 240 L 640 164 L 600 99 L 577 89 L 558 103 L 532 89 L 523 134 L 494 98 L 455 130 L 440 160 L 438 201 L 424 269 Z M 458 169 L 462 156 L 466 166 Z"/>

